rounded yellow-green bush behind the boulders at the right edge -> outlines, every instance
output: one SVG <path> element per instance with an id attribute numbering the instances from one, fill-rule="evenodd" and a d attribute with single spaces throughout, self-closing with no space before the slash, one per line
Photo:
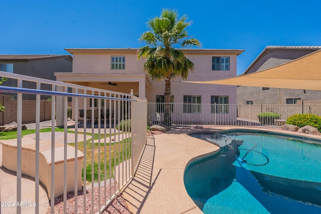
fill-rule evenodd
<path id="1" fill-rule="evenodd" d="M 293 114 L 287 118 L 286 124 L 296 125 L 300 128 L 309 125 L 321 131 L 321 117 L 315 114 Z"/>

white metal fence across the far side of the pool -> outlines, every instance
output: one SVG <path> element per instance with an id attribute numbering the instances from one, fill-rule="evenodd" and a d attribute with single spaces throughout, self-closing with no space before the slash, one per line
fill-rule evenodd
<path id="1" fill-rule="evenodd" d="M 234 105 L 234 104 L 185 104 L 171 103 L 171 126 L 184 127 L 193 125 L 228 125 L 258 126 L 283 125 L 286 119 L 299 113 L 310 113 L 309 106 L 296 104 L 285 105 Z M 166 104 L 148 103 L 148 115 L 153 124 L 164 124 Z M 276 113 L 264 120 L 261 113 Z"/>

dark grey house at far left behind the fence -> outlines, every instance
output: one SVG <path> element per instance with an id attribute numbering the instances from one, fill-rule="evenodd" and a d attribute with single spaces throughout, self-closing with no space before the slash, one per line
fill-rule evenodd
<path id="1" fill-rule="evenodd" d="M 0 71 L 56 80 L 55 72 L 72 72 L 72 56 L 70 55 L 0 55 Z M 8 79 L 3 86 L 17 86 L 16 80 Z M 36 88 L 36 84 L 23 82 L 26 88 Z M 25 88 L 24 87 L 24 88 Z M 49 85 L 41 85 L 44 90 L 51 90 Z M 3 93 L 8 94 L 8 93 Z M 13 94 L 10 94 L 13 95 Z M 47 99 L 49 96 L 42 96 Z M 17 99 L 17 95 L 13 95 Z M 35 100 L 35 95 L 23 94 L 24 100 Z"/>

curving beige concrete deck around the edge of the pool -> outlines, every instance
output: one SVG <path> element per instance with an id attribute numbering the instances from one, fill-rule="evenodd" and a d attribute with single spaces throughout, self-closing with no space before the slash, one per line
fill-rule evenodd
<path id="1" fill-rule="evenodd" d="M 186 166 L 201 156 L 215 153 L 218 147 L 191 137 L 188 133 L 232 129 L 281 132 L 293 136 L 321 136 L 281 130 L 280 128 L 213 127 L 176 129 L 154 135 L 147 140 L 142 159 L 134 178 L 123 189 L 122 196 L 132 213 L 203 213 L 188 195 L 184 185 Z"/>

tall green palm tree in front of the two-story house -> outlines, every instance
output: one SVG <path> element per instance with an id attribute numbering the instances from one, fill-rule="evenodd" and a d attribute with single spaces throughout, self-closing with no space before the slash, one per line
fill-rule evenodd
<path id="1" fill-rule="evenodd" d="M 187 16 L 179 19 L 177 11 L 163 9 L 161 16 L 147 22 L 149 31 L 139 39 L 146 46 L 137 50 L 138 59 L 145 58 L 146 73 L 152 79 L 165 79 L 165 124 L 168 126 L 171 125 L 171 80 L 175 77 L 186 79 L 194 69 L 194 63 L 185 57 L 182 49 L 200 46 L 197 39 L 188 36 L 186 28 L 191 22 L 187 20 Z"/>

